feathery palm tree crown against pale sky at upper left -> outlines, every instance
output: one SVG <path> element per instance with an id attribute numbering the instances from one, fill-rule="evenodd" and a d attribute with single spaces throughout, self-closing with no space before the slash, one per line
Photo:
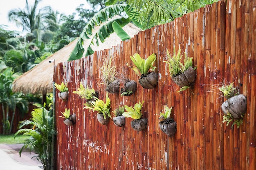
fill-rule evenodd
<path id="1" fill-rule="evenodd" d="M 25 9 L 11 9 L 8 13 L 9 21 L 14 21 L 16 25 L 22 26 L 23 31 L 33 33 L 35 30 L 41 30 L 43 27 L 43 18 L 49 13 L 50 7 L 44 7 L 37 10 L 38 3 L 41 0 L 35 0 L 34 6 L 29 6 L 26 0 Z"/>

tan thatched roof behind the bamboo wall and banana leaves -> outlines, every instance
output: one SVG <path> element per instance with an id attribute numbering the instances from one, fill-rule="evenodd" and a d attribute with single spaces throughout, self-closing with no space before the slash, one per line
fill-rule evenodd
<path id="1" fill-rule="evenodd" d="M 139 32 L 139 28 L 135 25 L 129 23 L 123 27 L 123 29 L 133 37 L 135 34 Z M 53 89 L 53 63 L 49 63 L 50 60 L 55 60 L 54 64 L 58 64 L 61 62 L 66 62 L 70 56 L 70 53 L 73 51 L 76 45 L 77 39 L 63 47 L 56 53 L 47 57 L 44 61 L 40 62 L 37 66 L 27 71 L 20 77 L 18 77 L 12 86 L 13 92 L 22 92 L 22 93 L 49 93 L 52 92 Z M 105 40 L 105 42 L 100 43 L 99 46 L 91 45 L 94 51 L 101 51 L 103 49 L 110 49 L 112 46 L 116 46 L 120 44 L 121 39 L 116 35 L 116 33 L 112 33 L 109 38 Z M 88 46 L 89 42 L 85 41 L 85 48 Z"/>

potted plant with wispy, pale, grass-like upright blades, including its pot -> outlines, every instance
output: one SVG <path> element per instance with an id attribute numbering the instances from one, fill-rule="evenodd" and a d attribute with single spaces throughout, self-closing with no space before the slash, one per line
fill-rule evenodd
<path id="1" fill-rule="evenodd" d="M 101 71 L 101 82 L 108 93 L 119 93 L 120 82 L 116 77 L 116 67 L 112 66 L 112 57 L 103 60 Z"/>

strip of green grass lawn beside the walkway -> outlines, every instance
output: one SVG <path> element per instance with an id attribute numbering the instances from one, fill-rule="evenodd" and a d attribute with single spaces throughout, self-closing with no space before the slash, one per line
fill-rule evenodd
<path id="1" fill-rule="evenodd" d="M 28 139 L 27 135 L 18 135 L 14 139 L 14 134 L 0 135 L 0 144 L 23 144 L 25 139 Z"/>

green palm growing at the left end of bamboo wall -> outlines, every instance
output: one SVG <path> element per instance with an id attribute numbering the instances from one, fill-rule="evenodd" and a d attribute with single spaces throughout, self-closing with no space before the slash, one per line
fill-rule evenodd
<path id="1" fill-rule="evenodd" d="M 35 158 L 42 163 L 44 170 L 51 169 L 52 155 L 52 138 L 56 134 L 53 129 L 52 110 L 48 111 L 45 108 L 35 108 L 31 112 L 31 119 L 21 121 L 18 125 L 17 135 L 23 134 L 30 136 L 25 140 L 24 146 L 20 149 L 20 155 L 23 149 L 30 148 L 38 156 Z M 21 129 L 24 126 L 32 126 L 33 128 Z"/>

